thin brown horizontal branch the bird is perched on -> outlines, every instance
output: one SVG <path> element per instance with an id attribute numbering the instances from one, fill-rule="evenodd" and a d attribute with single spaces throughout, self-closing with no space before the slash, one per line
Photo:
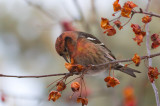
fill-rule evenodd
<path id="1" fill-rule="evenodd" d="M 141 56 L 141 60 L 144 59 L 149 59 L 149 58 L 153 58 L 156 56 L 160 56 L 160 53 L 155 53 L 155 54 L 151 54 L 151 55 L 147 55 L 147 56 Z M 132 59 L 123 59 L 123 60 L 115 60 L 115 61 L 111 61 L 111 62 L 107 62 L 104 64 L 99 64 L 99 65 L 91 65 L 91 67 L 99 67 L 99 66 L 105 66 L 105 65 L 109 65 L 109 64 L 114 64 L 114 63 L 119 63 L 119 62 L 130 62 L 132 61 Z M 86 67 L 90 68 L 90 66 Z M 74 72 L 74 73 L 59 73 L 59 74 L 48 74 L 48 75 L 32 75 L 32 76 L 18 76 L 18 75 L 5 75 L 5 74 L 0 74 L 0 77 L 14 77 L 14 78 L 44 78 L 44 77 L 53 77 L 53 76 L 73 76 L 73 75 L 79 75 L 81 73 L 79 72 Z"/>

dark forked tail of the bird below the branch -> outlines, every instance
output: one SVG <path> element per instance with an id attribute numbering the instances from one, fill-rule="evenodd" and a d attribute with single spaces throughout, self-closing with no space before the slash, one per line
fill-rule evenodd
<path id="1" fill-rule="evenodd" d="M 124 72 L 132 77 L 136 77 L 135 73 L 141 73 L 140 71 L 137 71 L 137 70 L 129 68 L 129 67 L 125 67 L 121 64 L 117 64 L 116 67 L 114 67 L 114 69 L 119 70 L 121 72 Z"/>

